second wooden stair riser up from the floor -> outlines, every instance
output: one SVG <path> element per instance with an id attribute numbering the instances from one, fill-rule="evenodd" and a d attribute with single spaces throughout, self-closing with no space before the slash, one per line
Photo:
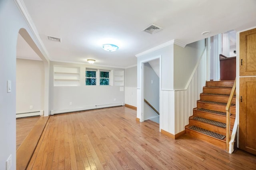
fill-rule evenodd
<path id="1" fill-rule="evenodd" d="M 190 126 L 194 125 L 196 127 L 204 128 L 206 130 L 210 130 L 212 132 L 216 132 L 216 133 L 223 134 L 226 136 L 226 128 L 217 127 L 217 126 L 211 125 L 209 123 L 204 123 L 201 121 L 194 120 L 192 118 L 189 119 L 189 125 Z M 232 133 L 232 131 L 231 131 L 231 133 Z"/>

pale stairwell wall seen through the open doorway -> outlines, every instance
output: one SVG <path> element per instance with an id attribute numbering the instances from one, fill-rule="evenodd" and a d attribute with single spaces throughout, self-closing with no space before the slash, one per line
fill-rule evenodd
<path id="1" fill-rule="evenodd" d="M 144 99 L 159 112 L 159 77 L 149 63 L 144 63 Z M 144 102 L 144 121 L 158 114 Z"/>

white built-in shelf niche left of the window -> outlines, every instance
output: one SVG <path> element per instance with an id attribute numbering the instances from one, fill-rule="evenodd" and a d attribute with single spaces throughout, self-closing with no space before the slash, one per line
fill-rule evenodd
<path id="1" fill-rule="evenodd" d="M 54 86 L 80 86 L 80 67 L 54 65 Z"/>

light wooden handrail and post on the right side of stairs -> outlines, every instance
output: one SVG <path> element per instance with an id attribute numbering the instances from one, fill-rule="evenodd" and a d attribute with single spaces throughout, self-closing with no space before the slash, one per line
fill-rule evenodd
<path id="1" fill-rule="evenodd" d="M 230 142 L 230 106 L 231 106 L 231 102 L 232 99 L 234 97 L 235 94 L 235 90 L 236 90 L 236 78 L 230 93 L 230 96 L 228 98 L 228 103 L 226 106 L 226 151 L 229 150 L 229 142 Z"/>

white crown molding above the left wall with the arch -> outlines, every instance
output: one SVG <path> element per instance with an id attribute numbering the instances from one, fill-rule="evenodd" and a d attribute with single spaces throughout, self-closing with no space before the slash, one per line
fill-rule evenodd
<path id="1" fill-rule="evenodd" d="M 23 0 L 14 0 L 14 2 L 16 3 L 18 9 L 20 10 L 20 12 L 21 12 L 22 16 L 24 17 L 26 23 L 28 24 L 28 27 L 30 28 L 32 34 L 36 38 L 36 41 L 38 42 L 38 45 L 39 45 L 38 48 L 40 49 L 40 51 L 42 52 L 42 54 L 44 55 L 46 60 L 49 61 L 50 60 L 49 53 L 46 50 L 46 47 L 44 46 L 44 43 L 42 42 L 42 40 L 41 40 L 41 38 L 38 34 L 36 26 L 35 26 L 32 18 L 30 17 L 30 14 L 28 13 L 28 10 L 27 10 Z"/>

